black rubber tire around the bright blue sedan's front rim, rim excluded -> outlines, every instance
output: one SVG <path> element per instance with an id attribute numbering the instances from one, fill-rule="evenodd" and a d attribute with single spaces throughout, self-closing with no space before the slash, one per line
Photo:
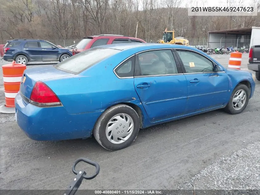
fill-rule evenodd
<path id="1" fill-rule="evenodd" d="M 242 89 L 242 90 L 244 90 L 244 91 L 246 92 L 246 102 L 245 102 L 244 106 L 243 106 L 241 109 L 236 110 L 236 109 L 234 109 L 234 107 L 233 107 L 233 97 L 234 97 L 235 93 L 236 93 L 238 90 L 240 90 L 240 89 Z M 228 104 L 226 105 L 226 107 L 224 108 L 224 110 L 225 110 L 226 112 L 230 113 L 230 114 L 239 114 L 239 113 L 243 112 L 243 110 L 246 108 L 246 106 L 247 106 L 247 104 L 248 104 L 249 94 L 250 94 L 250 90 L 249 90 L 249 88 L 248 88 L 246 85 L 244 85 L 244 84 L 238 84 L 238 85 L 235 87 L 234 91 L 232 92 L 232 94 L 231 94 L 231 96 L 230 96 L 230 99 L 229 99 L 229 102 L 228 102 Z"/>

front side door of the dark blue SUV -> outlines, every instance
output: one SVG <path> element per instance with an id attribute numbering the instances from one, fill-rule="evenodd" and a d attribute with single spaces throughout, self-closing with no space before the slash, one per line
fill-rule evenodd
<path id="1" fill-rule="evenodd" d="M 40 41 L 40 46 L 42 49 L 43 62 L 57 61 L 59 54 L 59 50 L 57 47 L 45 41 Z"/>

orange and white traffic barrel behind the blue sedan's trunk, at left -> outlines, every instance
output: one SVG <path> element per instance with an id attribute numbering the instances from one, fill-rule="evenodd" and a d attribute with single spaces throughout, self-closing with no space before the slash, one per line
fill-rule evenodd
<path id="1" fill-rule="evenodd" d="M 2 69 L 6 104 L 0 107 L 0 113 L 14 113 L 14 98 L 20 89 L 20 83 L 26 65 L 16 64 L 15 61 L 13 61 L 11 64 L 2 65 Z"/>

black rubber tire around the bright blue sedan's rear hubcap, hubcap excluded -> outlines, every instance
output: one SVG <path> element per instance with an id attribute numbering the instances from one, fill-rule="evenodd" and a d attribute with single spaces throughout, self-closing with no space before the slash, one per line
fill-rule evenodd
<path id="1" fill-rule="evenodd" d="M 124 141 L 123 143 L 120 143 L 120 144 L 114 144 L 114 143 L 111 143 L 108 140 L 108 138 L 106 137 L 106 126 L 107 126 L 109 120 L 111 118 L 113 118 L 113 116 L 120 114 L 120 113 L 127 114 L 133 119 L 134 128 L 133 128 L 132 134 L 126 141 Z M 94 126 L 93 135 L 94 135 L 95 139 L 97 140 L 97 142 L 103 148 L 105 148 L 107 150 L 112 150 L 112 151 L 121 150 L 123 148 L 128 147 L 129 145 L 131 145 L 134 142 L 134 140 L 139 132 L 139 127 L 140 127 L 140 120 L 139 120 L 139 116 L 135 112 L 135 110 L 128 105 L 118 104 L 118 105 L 108 108 L 99 117 L 98 121 L 96 122 L 96 124 Z"/>

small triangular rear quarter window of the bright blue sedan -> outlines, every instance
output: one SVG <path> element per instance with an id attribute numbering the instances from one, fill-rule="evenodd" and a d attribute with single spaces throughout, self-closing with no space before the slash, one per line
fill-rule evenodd
<path id="1" fill-rule="evenodd" d="M 115 69 L 116 75 L 119 77 L 133 77 L 134 76 L 134 56 L 123 62 Z"/>

